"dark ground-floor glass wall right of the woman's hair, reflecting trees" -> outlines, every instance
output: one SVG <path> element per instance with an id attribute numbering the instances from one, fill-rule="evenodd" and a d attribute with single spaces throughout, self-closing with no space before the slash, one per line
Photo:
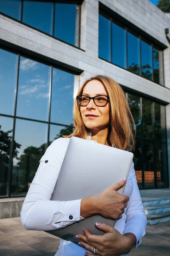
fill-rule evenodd
<path id="1" fill-rule="evenodd" d="M 127 93 L 136 124 L 133 162 L 140 189 L 168 186 L 165 106 Z"/>

